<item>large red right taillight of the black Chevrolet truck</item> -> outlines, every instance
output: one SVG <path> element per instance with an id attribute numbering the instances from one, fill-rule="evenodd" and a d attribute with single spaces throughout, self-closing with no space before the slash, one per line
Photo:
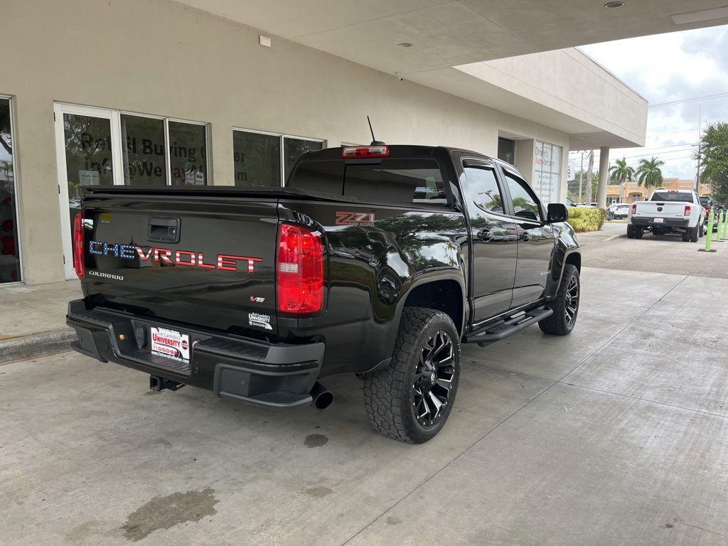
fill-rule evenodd
<path id="1" fill-rule="evenodd" d="M 278 310 L 314 313 L 323 309 L 323 240 L 319 232 L 282 223 L 276 272 Z"/>

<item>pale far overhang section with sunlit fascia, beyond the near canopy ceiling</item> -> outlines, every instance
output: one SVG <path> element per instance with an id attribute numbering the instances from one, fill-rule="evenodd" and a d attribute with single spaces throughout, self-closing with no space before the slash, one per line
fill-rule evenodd
<path id="1" fill-rule="evenodd" d="M 647 101 L 573 48 L 408 77 L 565 132 L 572 150 L 630 148 L 645 143 Z"/>

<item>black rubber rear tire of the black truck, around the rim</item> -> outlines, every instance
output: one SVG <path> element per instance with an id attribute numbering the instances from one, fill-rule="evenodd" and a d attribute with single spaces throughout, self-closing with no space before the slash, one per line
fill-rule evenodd
<path id="1" fill-rule="evenodd" d="M 454 374 L 442 415 L 435 424 L 424 427 L 414 415 L 413 385 L 419 355 L 433 333 L 445 331 L 453 341 Z M 434 437 L 446 423 L 457 393 L 460 376 L 460 336 L 451 318 L 435 309 L 405 307 L 395 341 L 392 361 L 382 371 L 364 374 L 364 407 L 372 426 L 395 440 L 423 443 Z"/>

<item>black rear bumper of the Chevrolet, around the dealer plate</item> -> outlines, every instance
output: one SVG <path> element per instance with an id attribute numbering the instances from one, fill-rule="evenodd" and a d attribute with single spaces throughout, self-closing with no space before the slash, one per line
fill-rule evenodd
<path id="1" fill-rule="evenodd" d="M 279 408 L 311 403 L 309 392 L 325 349 L 323 343 L 269 344 L 98 307 L 88 310 L 83 300 L 69 302 L 66 324 L 78 336 L 71 348 L 82 355 L 209 389 L 221 397 Z M 151 355 L 151 326 L 189 334 L 189 363 Z"/>

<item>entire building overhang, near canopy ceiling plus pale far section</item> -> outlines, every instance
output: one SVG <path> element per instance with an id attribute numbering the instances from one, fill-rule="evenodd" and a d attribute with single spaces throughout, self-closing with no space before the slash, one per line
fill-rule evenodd
<path id="1" fill-rule="evenodd" d="M 728 23 L 726 0 L 178 1 L 561 130 L 571 149 L 644 146 L 647 108 L 574 46 Z"/>

